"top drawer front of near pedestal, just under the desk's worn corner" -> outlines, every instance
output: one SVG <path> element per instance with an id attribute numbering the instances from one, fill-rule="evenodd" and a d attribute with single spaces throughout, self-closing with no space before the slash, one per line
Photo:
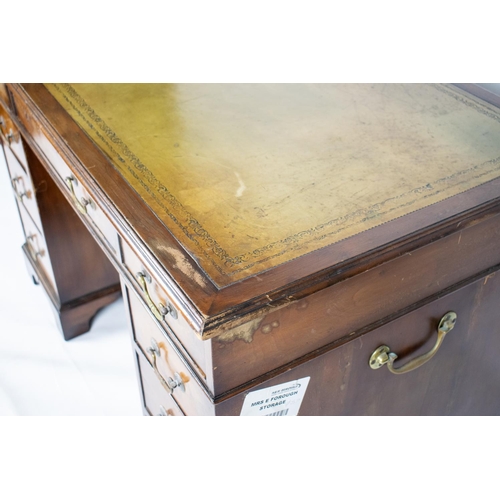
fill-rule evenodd
<path id="1" fill-rule="evenodd" d="M 210 341 L 200 340 L 180 309 L 174 302 L 172 295 L 159 285 L 159 280 L 151 271 L 143 265 L 139 257 L 124 242 L 123 243 L 123 264 L 136 280 L 139 289 L 142 291 L 142 300 L 145 303 L 152 303 L 153 308 L 162 312 L 162 307 L 173 307 L 175 310 L 165 315 L 160 315 L 157 320 L 163 328 L 168 327 L 170 335 L 174 337 L 177 346 L 184 350 L 183 355 L 190 359 L 191 365 L 196 369 L 198 375 L 204 379 L 209 387 L 212 386 L 211 371 L 209 367 Z M 143 279 L 140 278 L 143 276 Z M 150 306 L 151 307 L 151 306 Z M 156 314 L 156 311 L 155 313 Z"/>

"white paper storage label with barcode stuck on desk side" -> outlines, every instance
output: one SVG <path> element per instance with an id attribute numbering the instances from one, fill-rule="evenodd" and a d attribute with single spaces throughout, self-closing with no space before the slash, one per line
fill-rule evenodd
<path id="1" fill-rule="evenodd" d="M 245 417 L 295 417 L 311 377 L 250 392 L 241 409 Z"/>

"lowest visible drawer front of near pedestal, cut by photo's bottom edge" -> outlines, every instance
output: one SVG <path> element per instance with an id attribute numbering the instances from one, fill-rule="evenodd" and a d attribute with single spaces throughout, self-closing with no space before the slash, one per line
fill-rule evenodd
<path id="1" fill-rule="evenodd" d="M 153 368 L 140 353 L 137 354 L 137 366 L 141 378 L 144 407 L 148 413 L 159 417 L 183 417 L 184 413 L 179 405 L 163 389 Z"/>

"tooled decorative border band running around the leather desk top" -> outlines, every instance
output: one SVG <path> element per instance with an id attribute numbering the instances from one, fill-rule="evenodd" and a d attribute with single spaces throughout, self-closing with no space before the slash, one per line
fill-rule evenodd
<path id="1" fill-rule="evenodd" d="M 330 221 L 327 221 L 325 223 L 319 224 L 313 228 L 310 228 L 306 231 L 301 231 L 299 233 L 290 235 L 286 238 L 283 238 L 281 240 L 269 243 L 268 245 L 265 245 L 264 247 L 255 249 L 253 251 L 237 255 L 235 257 L 231 257 L 226 250 L 224 250 L 219 243 L 213 238 L 206 229 L 204 229 L 201 224 L 196 220 L 195 217 L 191 213 L 189 213 L 184 206 L 175 198 L 175 196 L 163 185 L 161 184 L 158 179 L 154 176 L 154 174 L 140 161 L 140 159 L 135 156 L 128 146 L 115 134 L 115 132 L 104 122 L 104 120 L 95 112 L 95 110 L 88 105 L 88 103 L 78 94 L 78 92 L 69 84 L 53 84 L 53 87 L 58 90 L 58 92 L 61 94 L 61 96 L 65 99 L 65 101 L 72 107 L 72 109 L 85 121 L 85 123 L 94 131 L 94 133 L 99 137 L 101 141 L 103 141 L 104 144 L 110 149 L 110 151 L 113 152 L 113 154 L 116 155 L 116 158 L 124 164 L 124 166 L 127 168 L 128 172 L 140 183 L 140 185 L 145 189 L 145 191 L 158 203 L 158 205 L 165 211 L 165 213 L 168 214 L 170 219 L 182 230 L 182 232 L 185 234 L 186 237 L 188 237 L 193 243 L 196 244 L 196 246 L 199 248 L 199 250 L 203 253 L 203 255 L 210 261 L 210 263 L 217 269 L 222 275 L 231 277 L 234 276 L 235 274 L 241 273 L 242 271 L 245 271 L 247 269 L 252 268 L 253 266 L 257 264 L 261 264 L 264 262 L 267 262 L 271 259 L 274 259 L 276 257 L 279 257 L 281 255 L 286 254 L 287 252 L 291 251 L 292 249 L 296 248 L 296 245 L 299 244 L 301 241 L 303 241 L 305 238 L 308 236 L 313 236 L 312 238 L 308 239 L 308 242 L 313 242 L 313 241 L 321 241 L 326 238 L 329 238 L 331 236 L 334 236 L 335 234 L 345 231 L 346 229 L 366 222 L 369 219 L 372 219 L 374 217 L 382 216 L 382 215 L 387 215 L 390 214 L 391 212 L 395 210 L 399 210 L 404 207 L 409 207 L 416 203 L 417 201 L 421 201 L 422 199 L 426 198 L 432 198 L 440 193 L 443 192 L 443 190 L 434 190 L 436 186 L 449 182 L 452 179 L 458 178 L 459 176 L 465 175 L 467 173 L 472 173 L 474 171 L 478 171 L 479 169 L 482 169 L 484 166 L 490 164 L 493 168 L 490 168 L 489 170 L 482 171 L 478 173 L 477 175 L 473 177 L 468 177 L 467 179 L 455 183 L 454 186 L 459 186 L 460 184 L 464 184 L 466 182 L 469 182 L 471 179 L 480 179 L 481 177 L 490 174 L 491 172 L 498 171 L 500 168 L 500 157 L 494 158 L 491 160 L 488 160 L 480 165 L 475 165 L 473 167 L 469 167 L 467 169 L 461 170 L 459 172 L 455 172 L 454 174 L 451 174 L 447 177 L 443 177 L 441 179 L 438 179 L 437 181 L 433 182 L 432 184 L 425 184 L 423 186 L 420 186 L 418 188 L 412 189 L 410 191 L 407 191 L 403 194 L 400 194 L 395 197 L 387 198 L 386 200 L 375 203 L 371 205 L 368 208 L 360 209 L 355 212 L 351 212 L 350 214 L 338 217 L 336 219 L 332 219 Z M 63 87 L 64 90 L 67 92 L 67 94 L 78 104 L 79 107 L 75 106 L 74 102 L 68 98 L 68 96 L 63 92 L 63 90 L 60 88 Z M 437 90 L 447 94 L 448 96 L 454 98 L 455 100 L 461 102 L 462 104 L 465 104 L 468 107 L 473 108 L 474 110 L 482 113 L 485 116 L 488 116 L 489 118 L 494 119 L 498 123 L 500 123 L 500 115 L 495 114 L 489 109 L 486 109 L 485 107 L 479 105 L 478 103 L 468 100 L 464 96 L 455 93 L 448 87 L 444 85 L 437 85 L 433 84 L 433 87 L 436 88 Z M 87 116 L 85 116 L 81 110 L 84 110 Z M 94 126 L 96 125 L 96 126 Z M 104 137 L 99 130 L 101 130 L 106 137 Z M 110 143 L 111 141 L 111 143 Z M 115 145 L 116 148 L 113 146 Z M 121 151 L 119 153 L 117 151 Z M 135 167 L 132 168 L 130 164 L 123 158 L 127 158 L 130 160 L 132 165 Z M 142 176 L 138 175 L 139 171 Z M 144 182 L 143 178 L 146 178 L 148 183 Z M 150 186 L 154 186 L 156 191 L 151 190 Z M 384 205 L 390 202 L 397 201 L 399 199 L 406 198 L 408 195 L 412 194 L 419 194 L 425 191 L 430 191 L 433 190 L 432 193 L 429 193 L 423 197 L 420 197 L 418 200 L 414 199 L 412 201 L 409 201 L 407 203 L 404 203 L 402 205 L 398 205 L 396 207 L 389 208 L 383 212 L 380 210 L 383 209 Z M 466 189 L 467 190 L 467 189 Z M 161 195 L 161 199 L 158 198 L 157 193 Z M 452 195 L 453 196 L 453 195 Z M 446 198 L 445 198 L 446 199 Z M 167 207 L 164 203 L 168 203 L 170 207 Z M 429 204 L 431 205 L 432 202 Z M 172 209 L 178 210 L 183 217 L 188 220 L 188 226 L 182 224 L 181 221 L 175 216 L 175 213 L 172 213 Z M 411 213 L 411 212 L 408 212 Z M 359 219 L 359 217 L 363 217 L 362 219 Z M 350 220 L 356 219 L 356 221 L 351 222 L 349 224 Z M 380 224 L 377 224 L 380 225 Z M 377 225 L 373 226 L 376 227 Z M 328 227 L 334 227 L 334 226 L 340 226 L 337 229 L 334 229 L 326 234 L 322 235 L 317 235 L 314 237 L 314 234 L 324 230 L 325 228 Z M 189 230 L 191 229 L 191 231 Z M 361 231 L 363 232 L 363 231 Z M 200 238 L 205 244 L 210 245 L 211 250 L 217 256 L 222 264 L 225 266 L 225 268 L 221 267 L 220 263 L 215 261 L 213 259 L 213 255 L 209 254 L 206 252 L 206 250 L 200 245 L 198 238 Z M 339 240 L 342 241 L 342 240 Z M 338 241 L 337 241 L 338 242 Z M 336 242 L 336 243 L 337 243 Z M 260 259 L 260 260 L 254 260 L 252 262 L 248 262 L 250 258 L 257 258 L 263 254 L 267 254 L 269 251 L 272 251 L 273 249 L 277 248 L 282 248 L 281 251 L 277 253 L 273 253 L 272 255 L 268 255 L 267 257 Z M 238 266 L 239 264 L 247 262 L 247 265 L 238 267 L 237 269 L 234 269 L 235 266 Z M 228 271 L 227 268 L 233 268 L 232 271 Z"/>

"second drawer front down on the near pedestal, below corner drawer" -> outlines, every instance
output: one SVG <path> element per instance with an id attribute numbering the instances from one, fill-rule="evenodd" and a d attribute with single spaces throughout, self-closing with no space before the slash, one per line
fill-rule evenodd
<path id="1" fill-rule="evenodd" d="M 167 394 L 171 392 L 186 415 L 213 414 L 212 402 L 194 370 L 181 358 L 172 341 L 157 327 L 150 311 L 139 297 L 131 290 L 128 290 L 127 295 L 134 340 L 149 364 L 156 366 L 155 376 L 163 384 L 163 390 Z"/>

